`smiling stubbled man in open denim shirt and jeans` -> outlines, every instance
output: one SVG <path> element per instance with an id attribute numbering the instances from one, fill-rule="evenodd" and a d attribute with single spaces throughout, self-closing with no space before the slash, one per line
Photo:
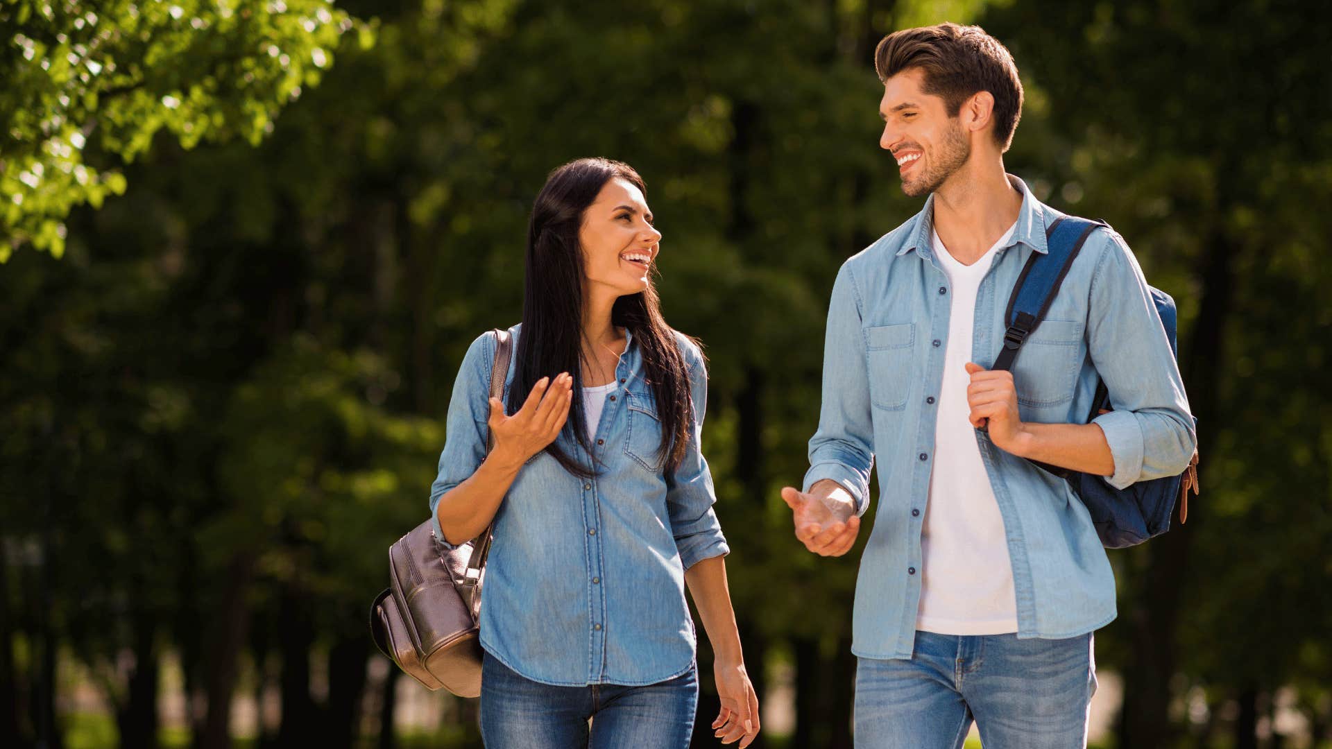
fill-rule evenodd
<path id="1" fill-rule="evenodd" d="M 1132 252 L 1098 228 L 1014 372 L 991 372 L 1014 284 L 1058 216 L 1003 153 L 1022 113 L 978 27 L 888 35 L 879 145 L 923 211 L 842 265 L 797 537 L 839 556 L 879 506 L 856 581 L 856 746 L 1084 746 L 1092 633 L 1115 580 L 1087 509 L 1040 461 L 1124 488 L 1193 454 L 1184 386 Z M 1096 377 L 1114 410 L 1084 422 Z M 982 429 L 983 428 L 983 429 Z"/>

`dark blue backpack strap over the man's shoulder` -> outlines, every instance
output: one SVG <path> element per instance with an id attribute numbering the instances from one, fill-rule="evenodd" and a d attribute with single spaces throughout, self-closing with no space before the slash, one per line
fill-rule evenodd
<path id="1" fill-rule="evenodd" d="M 1012 296 L 1008 297 L 1008 311 L 1004 315 L 1007 329 L 1003 335 L 1003 348 L 991 369 L 1011 369 L 1018 351 L 1027 336 L 1040 325 L 1050 311 L 1050 304 L 1059 293 L 1059 285 L 1072 268 L 1074 260 L 1082 252 L 1087 237 L 1104 221 L 1092 221 L 1076 216 L 1060 215 L 1046 229 L 1047 253 L 1032 252 L 1023 267 Z"/>

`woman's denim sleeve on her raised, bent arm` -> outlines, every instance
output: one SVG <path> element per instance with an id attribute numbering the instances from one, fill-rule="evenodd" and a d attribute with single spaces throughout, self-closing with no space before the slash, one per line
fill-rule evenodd
<path id="1" fill-rule="evenodd" d="M 444 450 L 440 453 L 434 482 L 430 484 L 430 525 L 434 528 L 434 537 L 450 549 L 453 545 L 444 540 L 440 517 L 434 510 L 440 506 L 440 497 L 470 478 L 486 457 L 494 341 L 493 333 L 484 333 L 472 341 L 462 357 L 458 378 L 453 381 L 453 396 L 449 398 Z"/>

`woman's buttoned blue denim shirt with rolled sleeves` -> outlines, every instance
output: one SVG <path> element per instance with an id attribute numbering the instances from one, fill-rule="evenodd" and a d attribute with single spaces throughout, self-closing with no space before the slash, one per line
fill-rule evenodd
<path id="1" fill-rule="evenodd" d="M 509 329 L 517 352 L 521 325 Z M 626 332 L 627 335 L 627 332 Z M 707 372 L 682 336 L 695 406 L 685 460 L 663 469 L 657 400 L 643 381 L 641 349 L 629 336 L 591 441 L 599 476 L 578 478 L 545 452 L 522 470 L 494 520 L 481 605 L 481 645 L 519 674 L 543 684 L 655 684 L 694 662 L 694 622 L 685 570 L 726 554 L 713 512 L 715 493 L 699 452 Z M 470 477 L 486 454 L 489 384 L 496 337 L 468 349 L 449 402 L 448 438 L 430 486 L 440 497 Z M 505 377 L 505 402 L 515 360 Z M 526 397 L 526 393 L 519 396 Z M 582 418 L 570 410 L 569 418 Z M 586 461 L 567 433 L 559 444 Z"/>

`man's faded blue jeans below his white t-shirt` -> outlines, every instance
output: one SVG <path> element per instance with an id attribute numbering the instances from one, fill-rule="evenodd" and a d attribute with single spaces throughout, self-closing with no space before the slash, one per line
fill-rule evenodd
<path id="1" fill-rule="evenodd" d="M 858 749 L 959 749 L 975 720 L 986 749 L 1087 745 L 1096 690 L 1092 634 L 916 632 L 911 660 L 860 658 L 855 670 Z"/>

